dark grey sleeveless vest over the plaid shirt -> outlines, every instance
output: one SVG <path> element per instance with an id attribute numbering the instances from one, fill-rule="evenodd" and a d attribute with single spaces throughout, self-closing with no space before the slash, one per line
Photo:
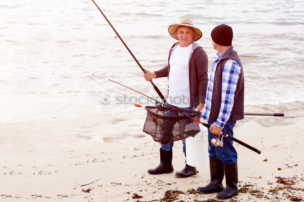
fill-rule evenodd
<path id="1" fill-rule="evenodd" d="M 226 50 L 226 52 L 223 54 L 223 57 L 220 59 L 219 63 L 216 66 L 209 121 L 216 121 L 217 117 L 219 116 L 219 109 L 222 99 L 223 68 L 225 63 L 230 59 L 235 60 L 239 63 L 241 67 L 241 74 L 239 82 L 237 83 L 237 90 L 234 96 L 234 103 L 229 121 L 244 119 L 244 71 L 237 52 L 234 51 L 233 46 L 231 46 L 228 50 Z"/>

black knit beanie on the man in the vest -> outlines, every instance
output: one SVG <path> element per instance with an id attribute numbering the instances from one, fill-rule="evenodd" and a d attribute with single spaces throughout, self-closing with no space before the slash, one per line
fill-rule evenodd
<path id="1" fill-rule="evenodd" d="M 230 46 L 233 38 L 232 28 L 228 25 L 218 25 L 211 32 L 212 40 L 223 46 Z"/>

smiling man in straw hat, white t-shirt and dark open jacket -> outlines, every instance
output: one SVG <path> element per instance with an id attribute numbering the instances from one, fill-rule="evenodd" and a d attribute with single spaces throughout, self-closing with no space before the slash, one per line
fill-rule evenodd
<path id="1" fill-rule="evenodd" d="M 205 105 L 208 84 L 208 57 L 204 49 L 195 43 L 202 37 L 202 32 L 193 26 L 191 19 L 182 18 L 178 24 L 170 25 L 169 34 L 177 39 L 169 51 L 168 65 L 163 69 L 150 72 L 147 69 L 144 78 L 150 79 L 168 77 L 168 97 L 166 104 L 174 108 L 201 111 Z M 174 124 L 173 124 L 174 125 Z M 170 126 L 167 126 L 167 129 Z M 186 156 L 185 140 L 183 152 Z M 160 164 L 149 169 L 150 174 L 173 172 L 172 166 L 173 142 L 162 144 L 160 148 Z M 187 163 L 176 177 L 189 177 L 197 173 L 196 168 Z"/>

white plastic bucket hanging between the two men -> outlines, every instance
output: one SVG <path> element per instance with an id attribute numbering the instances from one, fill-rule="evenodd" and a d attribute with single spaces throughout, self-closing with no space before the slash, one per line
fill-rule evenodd
<path id="1" fill-rule="evenodd" d="M 201 132 L 186 138 L 186 163 L 193 167 L 209 166 L 208 130 L 200 124 Z"/>

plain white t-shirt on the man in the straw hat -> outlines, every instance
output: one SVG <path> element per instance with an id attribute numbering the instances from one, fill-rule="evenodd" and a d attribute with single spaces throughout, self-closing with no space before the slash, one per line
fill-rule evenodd
<path id="1" fill-rule="evenodd" d="M 190 106 L 189 57 L 191 49 L 192 44 L 187 47 L 178 45 L 170 57 L 167 102 L 174 106 Z"/>

